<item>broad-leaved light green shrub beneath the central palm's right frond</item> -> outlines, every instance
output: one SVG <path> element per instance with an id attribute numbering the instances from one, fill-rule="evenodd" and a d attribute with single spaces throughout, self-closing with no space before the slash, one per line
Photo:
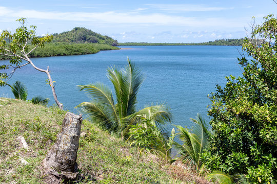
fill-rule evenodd
<path id="1" fill-rule="evenodd" d="M 145 117 L 142 117 L 142 122 L 131 125 L 130 137 L 128 138 L 131 141 L 131 145 L 136 145 L 148 152 L 155 152 L 166 159 L 166 161 L 171 160 L 170 150 L 175 137 L 174 128 L 171 131 L 171 136 L 168 137 L 166 132 L 158 128 L 154 121 Z"/>

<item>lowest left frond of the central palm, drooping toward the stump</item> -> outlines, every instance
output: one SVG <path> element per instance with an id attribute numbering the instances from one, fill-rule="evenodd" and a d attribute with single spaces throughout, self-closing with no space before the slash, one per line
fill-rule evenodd
<path id="1" fill-rule="evenodd" d="M 83 102 L 75 108 L 80 108 L 80 111 L 85 114 L 85 117 L 99 125 L 102 129 L 117 132 L 117 126 L 111 120 L 110 112 L 102 104 L 97 102 Z"/>

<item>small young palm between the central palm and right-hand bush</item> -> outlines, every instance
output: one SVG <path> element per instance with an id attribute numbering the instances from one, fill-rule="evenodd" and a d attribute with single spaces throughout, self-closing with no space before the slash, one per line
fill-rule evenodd
<path id="1" fill-rule="evenodd" d="M 173 144 L 177 152 L 184 157 L 184 160 L 194 166 L 196 171 L 199 171 L 203 164 L 200 156 L 205 149 L 209 148 L 209 141 L 212 135 L 208 130 L 208 124 L 200 114 L 197 114 L 196 119 L 191 119 L 191 121 L 195 123 L 191 131 L 188 128 L 176 125 L 179 131 L 177 134 L 183 142 L 183 145 L 177 142 Z"/>

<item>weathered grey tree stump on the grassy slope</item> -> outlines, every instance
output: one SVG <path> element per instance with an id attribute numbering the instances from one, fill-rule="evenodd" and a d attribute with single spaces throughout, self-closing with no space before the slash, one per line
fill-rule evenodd
<path id="1" fill-rule="evenodd" d="M 47 173 L 64 179 L 75 179 L 77 172 L 77 151 L 79 146 L 82 115 L 67 112 L 62 131 L 44 159 Z"/>

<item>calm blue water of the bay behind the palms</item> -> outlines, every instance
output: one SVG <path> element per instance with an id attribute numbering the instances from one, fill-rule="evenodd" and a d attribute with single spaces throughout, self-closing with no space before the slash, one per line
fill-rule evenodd
<path id="1" fill-rule="evenodd" d="M 128 50 L 101 51 L 92 55 L 33 58 L 42 68 L 50 66 L 56 81 L 58 100 L 65 109 L 77 113 L 74 107 L 89 98 L 76 85 L 103 82 L 112 87 L 106 77 L 111 65 L 122 67 L 127 57 L 140 66 L 145 81 L 137 99 L 137 108 L 165 102 L 173 113 L 172 124 L 191 126 L 189 118 L 197 113 L 207 117 L 207 95 L 215 91 L 215 84 L 225 84 L 225 76 L 242 74 L 236 58 L 241 47 L 231 46 L 126 46 Z M 5 61 L 0 61 L 3 63 Z M 10 83 L 20 80 L 28 88 L 28 99 L 36 95 L 50 98 L 45 73 L 30 65 L 16 71 Z M 13 98 L 9 87 L 0 87 L 0 96 Z M 208 119 L 208 118 L 206 118 Z M 172 127 L 169 126 L 168 129 Z"/>

